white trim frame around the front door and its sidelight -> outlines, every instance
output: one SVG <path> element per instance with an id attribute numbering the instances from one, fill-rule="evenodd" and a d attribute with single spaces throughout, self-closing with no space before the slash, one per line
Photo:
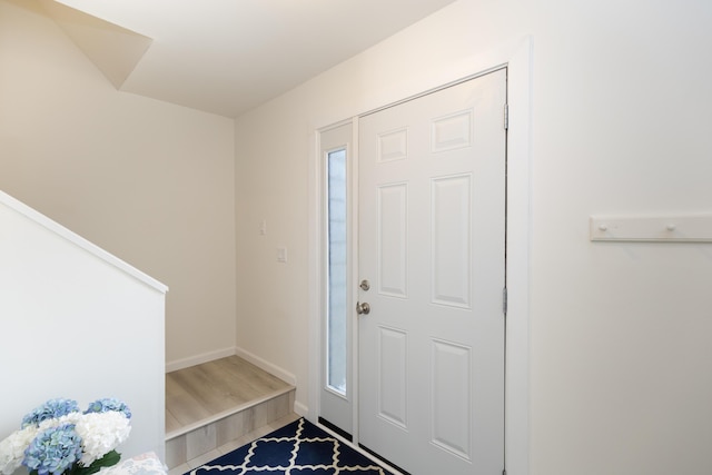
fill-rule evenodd
<path id="1" fill-rule="evenodd" d="M 496 67 L 506 66 L 508 131 L 507 131 L 507 318 L 505 375 L 505 466 L 507 475 L 528 475 L 530 472 L 530 154 L 532 41 L 525 38 L 502 46 L 485 55 L 471 58 L 467 65 L 454 65 L 442 71 L 443 80 L 429 89 L 476 76 Z M 425 90 L 423 91 L 425 92 Z M 392 103 L 404 97 L 394 97 Z M 376 105 L 386 106 L 387 103 Z M 375 109 L 374 107 L 373 109 Z M 367 110 L 356 110 L 357 117 Z M 313 127 L 314 141 L 309 161 L 309 382 L 308 407 L 296 407 L 315 422 L 319 407 L 322 372 L 322 208 L 319 130 L 332 123 Z M 355 121 L 354 135 L 358 133 Z M 355 331 L 357 334 L 357 331 Z M 356 345 L 357 348 L 357 345 Z M 358 382 L 354 382 L 358 384 Z M 357 405 L 356 405 L 357 407 Z M 357 420 L 357 418 L 356 418 Z M 354 437 L 358 439 L 357 427 Z"/>

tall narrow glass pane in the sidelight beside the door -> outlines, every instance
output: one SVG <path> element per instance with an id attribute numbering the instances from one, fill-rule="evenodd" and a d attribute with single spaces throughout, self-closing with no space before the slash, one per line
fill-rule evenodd
<path id="1" fill-rule="evenodd" d="M 346 150 L 328 154 L 327 384 L 346 395 Z"/>

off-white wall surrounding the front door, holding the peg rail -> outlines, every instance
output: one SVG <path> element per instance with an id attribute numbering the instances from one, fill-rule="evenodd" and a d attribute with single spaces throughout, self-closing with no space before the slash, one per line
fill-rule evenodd
<path id="1" fill-rule="evenodd" d="M 238 347 L 307 404 L 314 129 L 531 34 L 530 473 L 712 472 L 712 248 L 589 240 L 593 214 L 712 211 L 711 19 L 692 0 L 461 0 L 239 118 Z"/>

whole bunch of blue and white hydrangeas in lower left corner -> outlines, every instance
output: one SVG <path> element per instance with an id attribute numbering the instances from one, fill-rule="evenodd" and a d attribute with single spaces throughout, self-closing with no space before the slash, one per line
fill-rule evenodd
<path id="1" fill-rule="evenodd" d="M 76 400 L 50 399 L 22 418 L 20 431 L 0 442 L 0 474 L 21 465 L 30 475 L 89 475 L 121 458 L 116 447 L 131 431 L 131 412 L 113 398 L 83 413 Z"/>

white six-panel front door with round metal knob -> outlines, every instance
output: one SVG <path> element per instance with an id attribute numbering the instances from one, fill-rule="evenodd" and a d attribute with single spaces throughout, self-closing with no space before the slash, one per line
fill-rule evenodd
<path id="1" fill-rule="evenodd" d="M 414 475 L 504 468 L 505 103 L 501 69 L 359 120 L 359 443 Z"/>

